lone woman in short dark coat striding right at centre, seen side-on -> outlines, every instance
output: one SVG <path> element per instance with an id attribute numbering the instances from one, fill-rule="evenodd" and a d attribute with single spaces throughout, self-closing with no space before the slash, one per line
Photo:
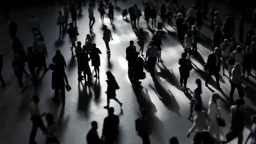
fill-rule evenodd
<path id="1" fill-rule="evenodd" d="M 117 82 L 115 81 L 115 77 L 114 77 L 114 75 L 112 75 L 112 73 L 110 71 L 106 72 L 106 75 L 108 77 L 108 80 L 106 80 L 106 82 L 108 84 L 108 88 L 107 88 L 107 92 L 105 92 L 107 94 L 107 105 L 104 108 L 106 108 L 106 109 L 109 108 L 110 99 L 114 99 L 116 102 L 118 102 L 120 107 L 122 107 L 122 103 L 120 101 L 118 101 L 118 99 L 116 98 L 116 94 L 115 94 L 115 90 L 119 89 L 119 86 L 118 86 Z"/>

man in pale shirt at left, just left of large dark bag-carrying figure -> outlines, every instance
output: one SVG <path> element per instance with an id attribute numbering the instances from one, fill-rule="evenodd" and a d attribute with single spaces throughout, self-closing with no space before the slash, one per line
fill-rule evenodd
<path id="1" fill-rule="evenodd" d="M 39 74 L 40 70 L 44 69 L 44 73 L 48 71 L 48 68 L 46 66 L 46 57 L 48 58 L 48 52 L 46 48 L 46 44 L 44 43 L 44 37 L 40 36 L 39 42 L 36 44 L 35 52 L 38 55 L 39 60 L 39 67 L 36 69 L 37 74 Z"/>

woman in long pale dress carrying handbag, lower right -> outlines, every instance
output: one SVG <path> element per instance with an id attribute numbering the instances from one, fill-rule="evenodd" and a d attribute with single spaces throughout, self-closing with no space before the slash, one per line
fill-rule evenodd
<path id="1" fill-rule="evenodd" d="M 223 132 L 221 131 L 217 121 L 217 117 L 220 117 L 220 108 L 217 101 L 219 97 L 220 95 L 218 93 L 213 92 L 213 95 L 209 101 L 209 108 L 208 108 L 208 115 L 211 120 L 209 124 L 209 132 L 210 132 L 210 135 L 215 139 L 217 143 L 224 140 Z"/>

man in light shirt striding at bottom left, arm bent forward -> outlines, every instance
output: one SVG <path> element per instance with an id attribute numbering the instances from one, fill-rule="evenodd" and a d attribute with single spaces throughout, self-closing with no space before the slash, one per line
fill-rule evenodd
<path id="1" fill-rule="evenodd" d="M 36 131 L 38 128 L 41 129 L 41 131 L 43 131 L 44 133 L 47 132 L 46 127 L 43 124 L 43 120 L 42 117 L 46 114 L 46 112 L 44 112 L 42 115 L 39 111 L 39 107 L 38 107 L 38 103 L 39 103 L 39 97 L 38 95 L 34 95 L 33 96 L 33 101 L 30 103 L 30 120 L 32 121 L 32 130 L 30 133 L 30 144 L 36 144 L 35 141 L 35 137 L 36 137 Z"/>

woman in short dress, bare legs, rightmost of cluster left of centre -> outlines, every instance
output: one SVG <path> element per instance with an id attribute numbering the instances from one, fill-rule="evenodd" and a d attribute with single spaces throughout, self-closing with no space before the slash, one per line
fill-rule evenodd
<path id="1" fill-rule="evenodd" d="M 90 52 L 90 59 L 92 59 L 92 66 L 94 66 L 95 75 L 93 77 L 99 79 L 99 66 L 100 66 L 100 56 L 102 52 L 96 48 L 96 44 L 92 44 L 92 51 Z"/>

